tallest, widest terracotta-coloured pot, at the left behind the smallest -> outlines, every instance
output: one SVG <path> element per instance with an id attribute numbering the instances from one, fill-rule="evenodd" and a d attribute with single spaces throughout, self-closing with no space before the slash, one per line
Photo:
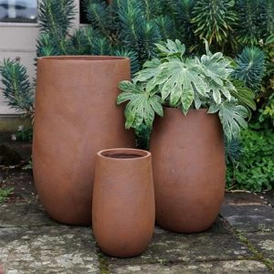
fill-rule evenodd
<path id="1" fill-rule="evenodd" d="M 60 223 L 91 224 L 96 153 L 134 144 L 116 105 L 123 79 L 131 79 L 128 58 L 38 59 L 33 172 L 42 204 Z"/>

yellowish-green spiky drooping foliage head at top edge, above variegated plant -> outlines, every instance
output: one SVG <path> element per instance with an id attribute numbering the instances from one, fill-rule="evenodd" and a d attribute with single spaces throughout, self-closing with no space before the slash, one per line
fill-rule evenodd
<path id="1" fill-rule="evenodd" d="M 227 43 L 236 20 L 233 0 L 198 0 L 193 9 L 191 22 L 195 34 L 208 40 L 209 44 Z"/>

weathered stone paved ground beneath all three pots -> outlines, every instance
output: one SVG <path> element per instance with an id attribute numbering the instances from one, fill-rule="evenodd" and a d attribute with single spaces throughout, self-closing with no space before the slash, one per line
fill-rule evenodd
<path id="1" fill-rule="evenodd" d="M 137 258 L 110 258 L 90 227 L 52 221 L 37 201 L 31 174 L 0 171 L 15 187 L 0 204 L 0 265 L 6 274 L 31 273 L 274 273 L 274 193 L 227 193 L 216 224 L 183 235 L 155 227 Z M 0 269 L 1 273 L 1 269 Z"/>

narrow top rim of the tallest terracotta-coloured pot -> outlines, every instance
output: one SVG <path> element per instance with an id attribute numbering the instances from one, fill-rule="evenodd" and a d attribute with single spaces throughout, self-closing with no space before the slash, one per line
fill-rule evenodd
<path id="1" fill-rule="evenodd" d="M 124 61 L 129 60 L 130 58 L 117 57 L 117 56 L 91 56 L 91 55 L 68 55 L 68 56 L 47 56 L 37 58 L 38 60 L 54 60 L 54 61 L 96 61 L 96 62 L 105 62 L 105 61 Z"/>

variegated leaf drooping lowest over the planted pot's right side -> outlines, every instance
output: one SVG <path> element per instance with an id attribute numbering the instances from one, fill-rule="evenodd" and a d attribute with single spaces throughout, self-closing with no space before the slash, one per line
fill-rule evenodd
<path id="1" fill-rule="evenodd" d="M 232 101 L 225 101 L 218 105 L 210 106 L 208 113 L 218 112 L 223 130 L 228 140 L 237 138 L 241 128 L 246 129 L 248 122 L 248 110 Z"/>

